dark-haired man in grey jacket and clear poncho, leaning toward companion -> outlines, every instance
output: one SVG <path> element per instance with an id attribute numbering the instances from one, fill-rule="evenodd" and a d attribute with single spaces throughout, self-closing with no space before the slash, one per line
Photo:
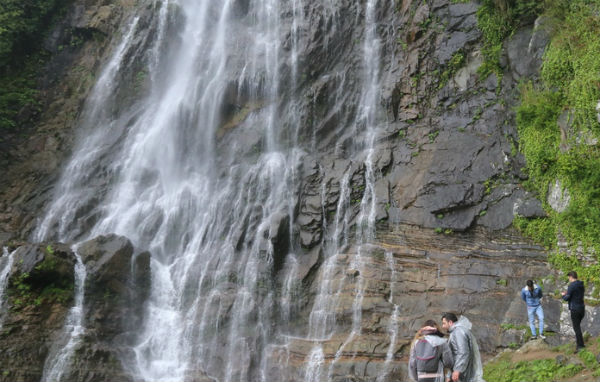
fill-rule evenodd
<path id="1" fill-rule="evenodd" d="M 457 319 L 454 313 L 442 315 L 442 328 L 450 332 L 448 342 L 454 356 L 453 382 L 485 382 L 479 346 L 471 327 L 465 316 Z"/>

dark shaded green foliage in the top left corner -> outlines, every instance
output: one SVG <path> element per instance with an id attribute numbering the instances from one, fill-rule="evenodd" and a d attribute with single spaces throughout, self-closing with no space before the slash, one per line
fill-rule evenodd
<path id="1" fill-rule="evenodd" d="M 0 131 L 18 127 L 20 113 L 39 112 L 37 71 L 43 34 L 68 0 L 0 2 Z"/>

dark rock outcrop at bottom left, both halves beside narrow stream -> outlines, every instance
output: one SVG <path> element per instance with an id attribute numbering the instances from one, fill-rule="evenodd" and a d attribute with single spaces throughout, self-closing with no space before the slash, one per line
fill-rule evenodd
<path id="1" fill-rule="evenodd" d="M 130 357 L 132 331 L 141 323 L 150 278 L 150 254 L 134 255 L 124 237 L 101 236 L 78 248 L 87 275 L 84 334 L 67 380 L 130 381 L 120 359 Z M 60 243 L 25 245 L 13 254 L 8 305 L 0 331 L 0 381 L 38 381 L 46 359 L 68 341 L 76 255 Z"/>

